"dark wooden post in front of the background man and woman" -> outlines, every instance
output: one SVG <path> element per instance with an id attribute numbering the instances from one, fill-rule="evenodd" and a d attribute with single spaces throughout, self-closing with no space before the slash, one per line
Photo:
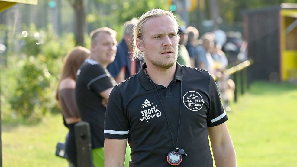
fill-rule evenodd
<path id="1" fill-rule="evenodd" d="M 91 132 L 88 122 L 81 121 L 74 126 L 77 167 L 93 167 Z"/>

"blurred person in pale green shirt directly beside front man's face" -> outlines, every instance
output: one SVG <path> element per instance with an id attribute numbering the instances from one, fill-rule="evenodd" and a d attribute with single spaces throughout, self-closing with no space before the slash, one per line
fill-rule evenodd
<path id="1" fill-rule="evenodd" d="M 184 65 L 187 67 L 191 67 L 191 60 L 188 53 L 188 50 L 185 47 L 185 44 L 188 41 L 188 33 L 186 32 L 185 27 L 179 27 L 179 45 L 178 45 L 178 55 L 177 55 L 177 63 L 180 65 Z"/>

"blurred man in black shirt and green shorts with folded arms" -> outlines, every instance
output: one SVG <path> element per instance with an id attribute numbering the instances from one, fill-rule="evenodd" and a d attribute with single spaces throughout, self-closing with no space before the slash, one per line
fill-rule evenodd
<path id="1" fill-rule="evenodd" d="M 115 59 L 115 38 L 116 32 L 108 27 L 92 31 L 91 53 L 80 66 L 76 77 L 76 103 L 82 120 L 90 124 L 95 167 L 104 166 L 103 126 L 106 104 L 112 88 L 116 85 L 106 67 Z M 128 149 L 127 153 L 130 153 L 130 148 Z M 131 159 L 129 155 L 126 157 L 128 160 Z"/>

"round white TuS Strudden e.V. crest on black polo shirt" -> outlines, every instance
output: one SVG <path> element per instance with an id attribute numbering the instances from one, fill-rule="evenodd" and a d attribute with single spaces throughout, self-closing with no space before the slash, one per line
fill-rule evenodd
<path id="1" fill-rule="evenodd" d="M 195 91 L 189 91 L 185 93 L 183 97 L 183 102 L 185 106 L 192 111 L 200 110 L 204 104 L 202 96 Z"/>

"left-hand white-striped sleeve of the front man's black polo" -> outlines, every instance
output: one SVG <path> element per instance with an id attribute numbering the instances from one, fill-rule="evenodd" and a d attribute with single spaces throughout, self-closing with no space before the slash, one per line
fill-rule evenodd
<path id="1" fill-rule="evenodd" d="M 125 114 L 122 95 L 115 86 L 108 98 L 104 121 L 104 138 L 127 139 L 129 121 Z"/>

